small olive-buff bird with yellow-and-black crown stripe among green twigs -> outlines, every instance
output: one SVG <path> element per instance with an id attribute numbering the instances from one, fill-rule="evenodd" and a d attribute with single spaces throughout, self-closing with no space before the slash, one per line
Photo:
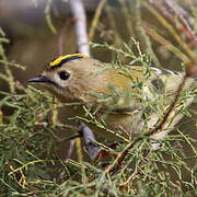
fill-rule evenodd
<path id="1" fill-rule="evenodd" d="M 43 72 L 28 80 L 42 84 L 81 117 L 93 132 L 109 141 L 129 141 L 153 129 L 175 99 L 185 73 L 150 66 L 106 63 L 81 54 L 59 56 Z M 188 78 L 183 96 L 167 129 L 155 134 L 163 139 L 183 118 L 196 95 L 196 78 Z"/>

